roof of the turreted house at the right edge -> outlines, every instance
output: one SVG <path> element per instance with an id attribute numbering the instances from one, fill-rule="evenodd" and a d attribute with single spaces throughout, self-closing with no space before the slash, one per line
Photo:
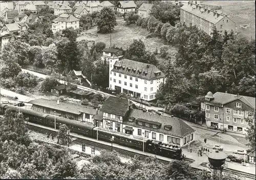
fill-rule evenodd
<path id="1" fill-rule="evenodd" d="M 236 94 L 229 94 L 229 93 L 223 93 L 223 92 L 216 92 L 214 94 L 214 99 L 210 102 L 215 102 L 218 104 L 225 105 L 229 102 L 232 102 L 234 100 L 241 100 L 249 107 L 255 109 L 255 97 L 249 97 L 249 96 L 237 96 Z"/>

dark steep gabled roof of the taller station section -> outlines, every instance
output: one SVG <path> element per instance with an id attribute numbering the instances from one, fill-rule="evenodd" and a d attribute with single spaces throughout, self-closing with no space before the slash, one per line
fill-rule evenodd
<path id="1" fill-rule="evenodd" d="M 101 111 L 124 116 L 133 102 L 122 97 L 109 96 L 102 105 Z"/>

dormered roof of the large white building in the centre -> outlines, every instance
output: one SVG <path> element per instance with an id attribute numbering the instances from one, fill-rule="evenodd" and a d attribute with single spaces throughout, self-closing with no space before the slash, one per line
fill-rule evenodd
<path id="1" fill-rule="evenodd" d="M 154 80 L 158 78 L 164 78 L 165 75 L 162 71 L 160 71 L 155 65 L 147 64 L 147 63 L 141 63 L 138 61 L 132 61 L 128 59 L 122 59 L 120 61 L 116 61 L 114 66 L 118 67 L 124 67 L 119 69 L 112 69 L 113 72 L 122 73 L 125 75 L 131 75 L 136 78 L 141 78 L 145 80 Z M 127 68 L 130 70 L 127 71 Z M 135 71 L 133 71 L 133 69 Z M 145 74 L 144 74 L 145 72 Z M 156 72 L 160 72 L 160 75 L 156 75 Z"/>

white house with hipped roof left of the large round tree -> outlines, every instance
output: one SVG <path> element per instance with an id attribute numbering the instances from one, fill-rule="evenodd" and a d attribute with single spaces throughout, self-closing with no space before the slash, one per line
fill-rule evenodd
<path id="1" fill-rule="evenodd" d="M 52 32 L 56 33 L 66 28 L 79 29 L 79 19 L 71 14 L 61 14 L 59 17 L 52 21 Z"/>

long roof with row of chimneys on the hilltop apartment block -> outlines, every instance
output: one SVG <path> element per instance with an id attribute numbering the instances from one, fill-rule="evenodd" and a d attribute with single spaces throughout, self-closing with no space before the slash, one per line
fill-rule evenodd
<path id="1" fill-rule="evenodd" d="M 219 17 L 217 15 L 214 16 L 214 14 L 216 13 L 214 10 L 210 10 L 206 7 L 202 7 L 200 5 L 196 5 L 194 3 L 191 3 L 192 6 L 188 5 L 187 3 L 184 4 L 180 9 L 190 12 L 196 16 L 202 17 L 203 19 L 206 19 L 214 24 L 216 24 L 217 22 L 219 22 L 222 18 L 225 17 L 225 15 L 223 14 L 219 14 Z M 198 8 L 197 8 L 198 7 Z M 200 10 L 199 10 L 200 7 Z M 209 13 L 208 13 L 209 10 Z"/>

